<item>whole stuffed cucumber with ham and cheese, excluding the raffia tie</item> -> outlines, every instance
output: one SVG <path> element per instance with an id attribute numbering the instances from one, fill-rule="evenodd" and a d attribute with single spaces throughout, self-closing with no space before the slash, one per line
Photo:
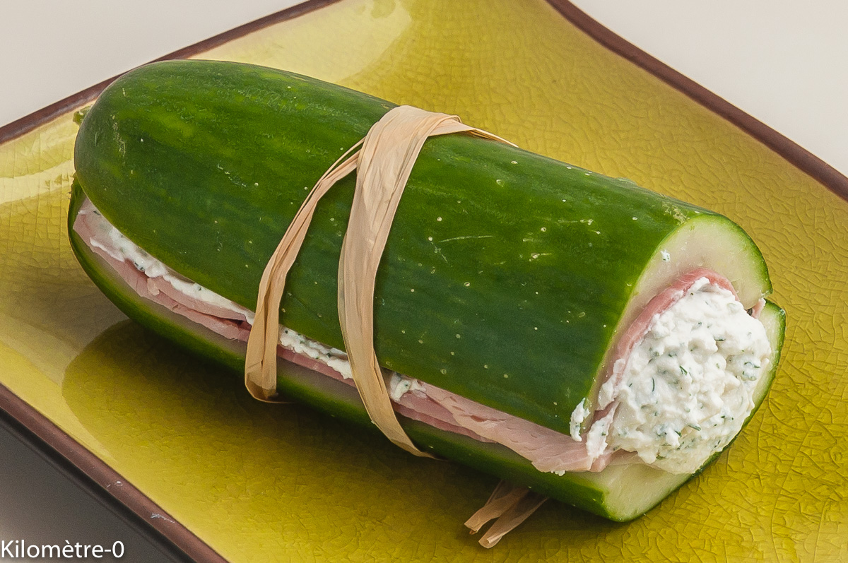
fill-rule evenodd
<path id="1" fill-rule="evenodd" d="M 237 368 L 299 204 L 392 107 L 251 65 L 134 70 L 81 123 L 75 253 L 128 315 Z M 285 367 L 278 386 L 363 420 L 336 308 L 353 184 L 319 204 L 281 305 L 282 357 L 324 375 Z M 627 520 L 762 402 L 783 337 L 770 291 L 762 254 L 722 215 L 498 142 L 435 137 L 377 275 L 375 346 L 422 448 Z M 639 354 L 652 371 L 633 367 Z M 686 414 L 663 404 L 675 401 Z"/>

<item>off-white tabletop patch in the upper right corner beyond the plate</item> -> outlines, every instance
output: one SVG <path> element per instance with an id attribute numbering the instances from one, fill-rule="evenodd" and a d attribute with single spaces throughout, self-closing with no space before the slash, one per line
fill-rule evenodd
<path id="1" fill-rule="evenodd" d="M 572 3 L 848 175 L 848 3 Z"/>

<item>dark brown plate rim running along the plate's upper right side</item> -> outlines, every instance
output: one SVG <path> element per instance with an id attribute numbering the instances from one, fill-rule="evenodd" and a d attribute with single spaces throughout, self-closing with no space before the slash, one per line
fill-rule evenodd
<path id="1" fill-rule="evenodd" d="M 616 35 L 616 33 L 607 29 L 598 21 L 593 20 L 588 14 L 571 2 L 568 2 L 568 0 L 547 0 L 547 2 L 557 12 L 562 14 L 566 20 L 571 22 L 572 25 L 576 26 L 577 29 L 592 37 L 602 46 L 622 56 L 624 59 L 628 59 L 628 61 L 639 66 L 641 69 L 647 70 L 651 75 L 672 86 L 678 92 L 682 92 L 706 109 L 711 110 L 713 113 L 720 115 L 725 120 L 736 125 L 739 129 L 745 131 L 757 141 L 762 142 L 775 153 L 778 153 L 781 157 L 789 161 L 790 164 L 795 165 L 796 168 L 808 176 L 812 176 L 813 179 L 821 183 L 824 187 L 827 187 L 831 192 L 834 192 L 840 198 L 848 200 L 848 176 L 843 175 L 839 170 L 819 159 L 815 154 L 806 150 L 806 148 L 801 148 L 796 142 L 784 137 L 784 135 L 778 133 L 778 131 L 775 131 L 762 121 L 756 120 L 756 118 L 746 114 L 734 106 L 734 104 L 729 103 L 724 98 L 707 90 L 704 86 L 680 74 L 677 70 L 661 62 L 661 60 L 645 53 L 622 36 Z"/>

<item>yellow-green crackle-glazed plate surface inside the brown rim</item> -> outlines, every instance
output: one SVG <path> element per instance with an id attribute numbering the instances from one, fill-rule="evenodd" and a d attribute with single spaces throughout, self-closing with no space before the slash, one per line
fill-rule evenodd
<path id="1" fill-rule="evenodd" d="M 848 203 L 543 0 L 323 4 L 198 56 L 460 114 L 750 233 L 788 328 L 734 446 L 637 521 L 550 502 L 481 549 L 494 478 L 254 401 L 103 298 L 67 242 L 70 112 L 0 145 L 3 386 L 227 560 L 848 560 Z"/>

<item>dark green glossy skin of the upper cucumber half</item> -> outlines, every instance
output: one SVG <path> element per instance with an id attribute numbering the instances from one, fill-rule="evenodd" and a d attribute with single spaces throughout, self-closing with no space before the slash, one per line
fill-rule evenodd
<path id="1" fill-rule="evenodd" d="M 115 81 L 82 120 L 77 178 L 139 246 L 253 309 L 306 189 L 391 107 L 252 65 L 151 64 Z M 336 348 L 353 176 L 321 201 L 282 301 L 284 324 Z M 434 137 L 377 275 L 377 356 L 567 433 L 646 261 L 695 215 L 726 220 L 498 142 Z"/>

